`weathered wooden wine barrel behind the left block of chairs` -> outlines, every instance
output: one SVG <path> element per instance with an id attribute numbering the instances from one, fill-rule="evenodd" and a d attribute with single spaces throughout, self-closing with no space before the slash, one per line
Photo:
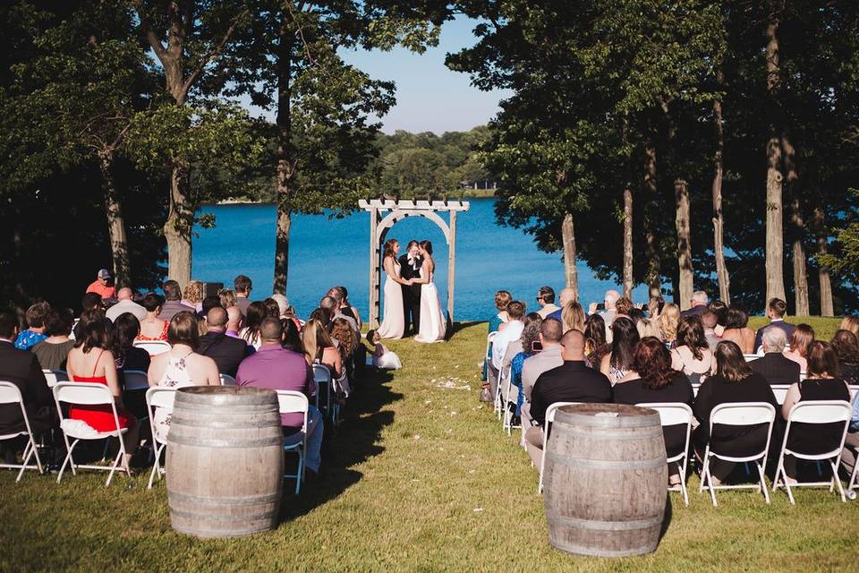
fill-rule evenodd
<path id="1" fill-rule="evenodd" d="M 176 531 L 232 537 L 274 529 L 284 481 L 276 392 L 179 389 L 167 434 L 166 473 Z"/>

